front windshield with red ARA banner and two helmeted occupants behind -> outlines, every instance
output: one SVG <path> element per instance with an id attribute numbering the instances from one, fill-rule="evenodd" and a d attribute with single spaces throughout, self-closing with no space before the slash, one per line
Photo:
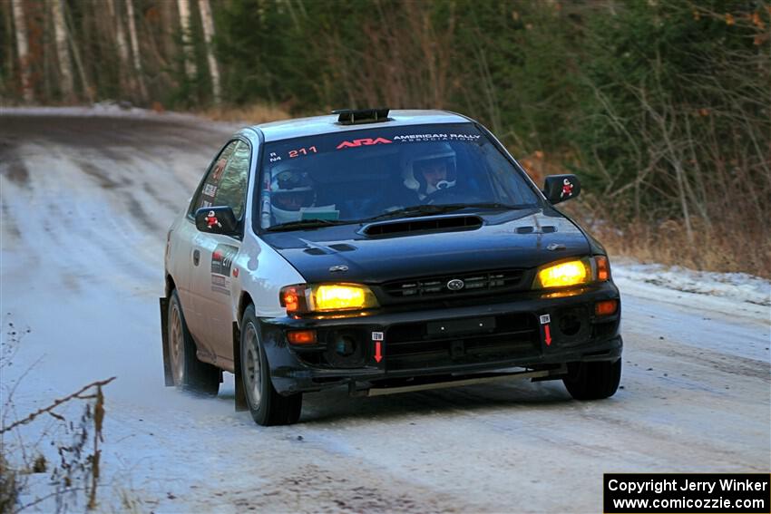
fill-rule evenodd
<path id="1" fill-rule="evenodd" d="M 369 127 L 268 142 L 258 187 L 263 229 L 538 203 L 522 172 L 471 123 Z"/>

